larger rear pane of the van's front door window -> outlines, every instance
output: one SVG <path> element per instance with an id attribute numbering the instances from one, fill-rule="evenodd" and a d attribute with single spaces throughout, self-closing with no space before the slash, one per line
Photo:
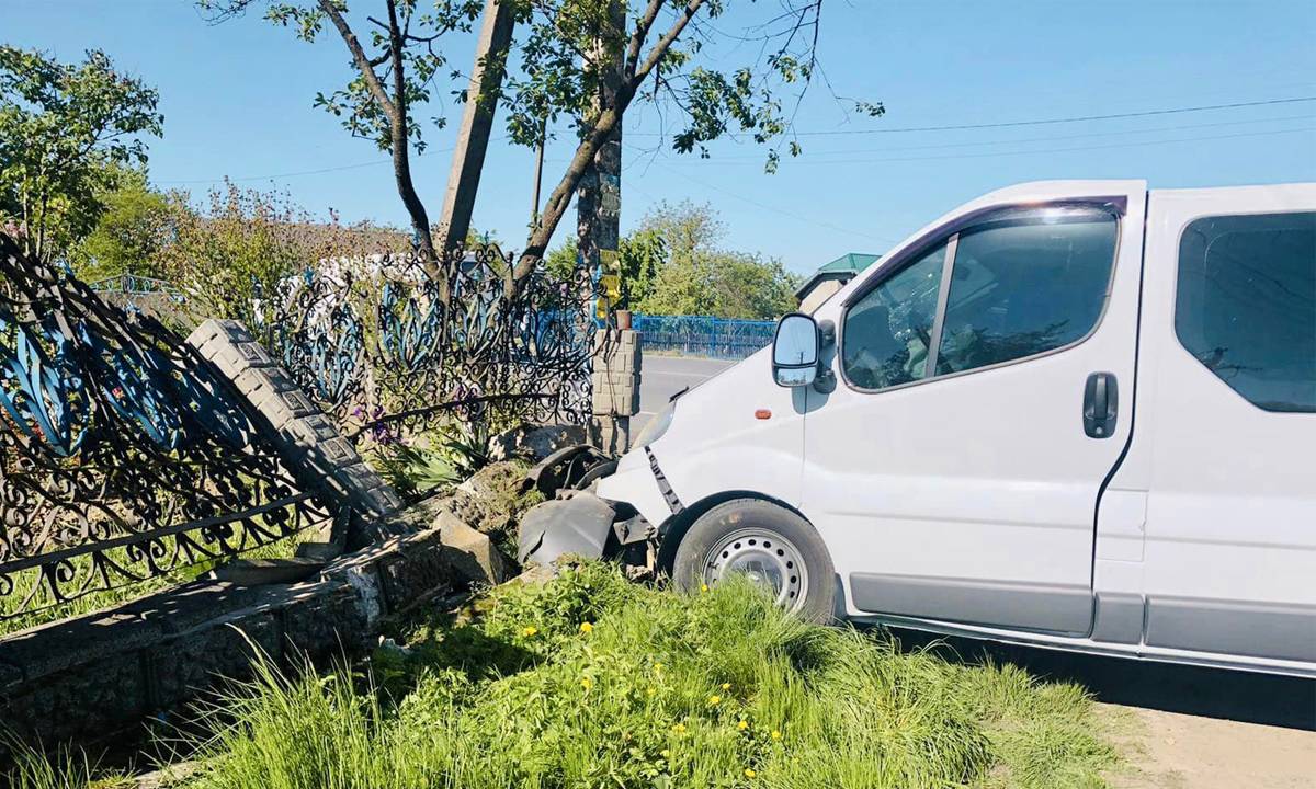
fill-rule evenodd
<path id="1" fill-rule="evenodd" d="M 1032 356 L 1086 337 L 1105 306 L 1119 224 L 1044 209 L 959 234 L 937 375 Z"/>

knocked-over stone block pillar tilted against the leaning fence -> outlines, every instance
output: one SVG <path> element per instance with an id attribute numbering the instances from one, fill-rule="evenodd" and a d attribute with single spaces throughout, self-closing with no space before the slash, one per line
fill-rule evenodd
<path id="1" fill-rule="evenodd" d="M 266 431 L 297 484 L 333 510 L 351 513 L 349 548 L 392 535 L 386 515 L 401 506 L 401 498 L 242 323 L 205 321 L 188 335 L 187 343 L 247 400 L 265 422 L 257 427 Z"/>

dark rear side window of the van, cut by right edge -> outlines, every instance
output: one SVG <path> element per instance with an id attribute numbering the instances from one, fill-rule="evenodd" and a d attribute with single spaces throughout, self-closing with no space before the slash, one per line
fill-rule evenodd
<path id="1" fill-rule="evenodd" d="M 1179 239 L 1174 329 L 1253 404 L 1316 413 L 1316 213 L 1191 222 Z"/>

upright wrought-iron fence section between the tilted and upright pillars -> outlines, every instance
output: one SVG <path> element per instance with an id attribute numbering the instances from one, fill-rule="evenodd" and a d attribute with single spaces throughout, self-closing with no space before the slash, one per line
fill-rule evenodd
<path id="1" fill-rule="evenodd" d="M 537 270 L 509 299 L 513 263 L 494 245 L 437 275 L 390 255 L 321 262 L 262 296 L 254 331 L 345 427 L 380 441 L 441 416 L 583 422 L 588 274 Z"/>

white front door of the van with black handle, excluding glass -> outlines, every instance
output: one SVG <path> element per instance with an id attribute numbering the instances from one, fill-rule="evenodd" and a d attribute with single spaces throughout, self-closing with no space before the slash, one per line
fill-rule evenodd
<path id="1" fill-rule="evenodd" d="M 851 615 L 1090 631 L 1098 496 L 1129 438 L 1145 188 L 1029 184 L 940 220 L 1120 197 L 1104 312 L 1076 345 L 883 391 L 851 387 L 833 360 L 836 391 L 809 391 L 801 512 L 832 550 Z M 936 243 L 936 229 L 913 238 Z M 875 267 L 848 289 L 888 274 Z M 816 314 L 837 322 L 842 345 L 846 299 Z M 1103 439 L 1082 419 L 1084 381 L 1099 371 L 1120 387 L 1120 419 Z"/>

